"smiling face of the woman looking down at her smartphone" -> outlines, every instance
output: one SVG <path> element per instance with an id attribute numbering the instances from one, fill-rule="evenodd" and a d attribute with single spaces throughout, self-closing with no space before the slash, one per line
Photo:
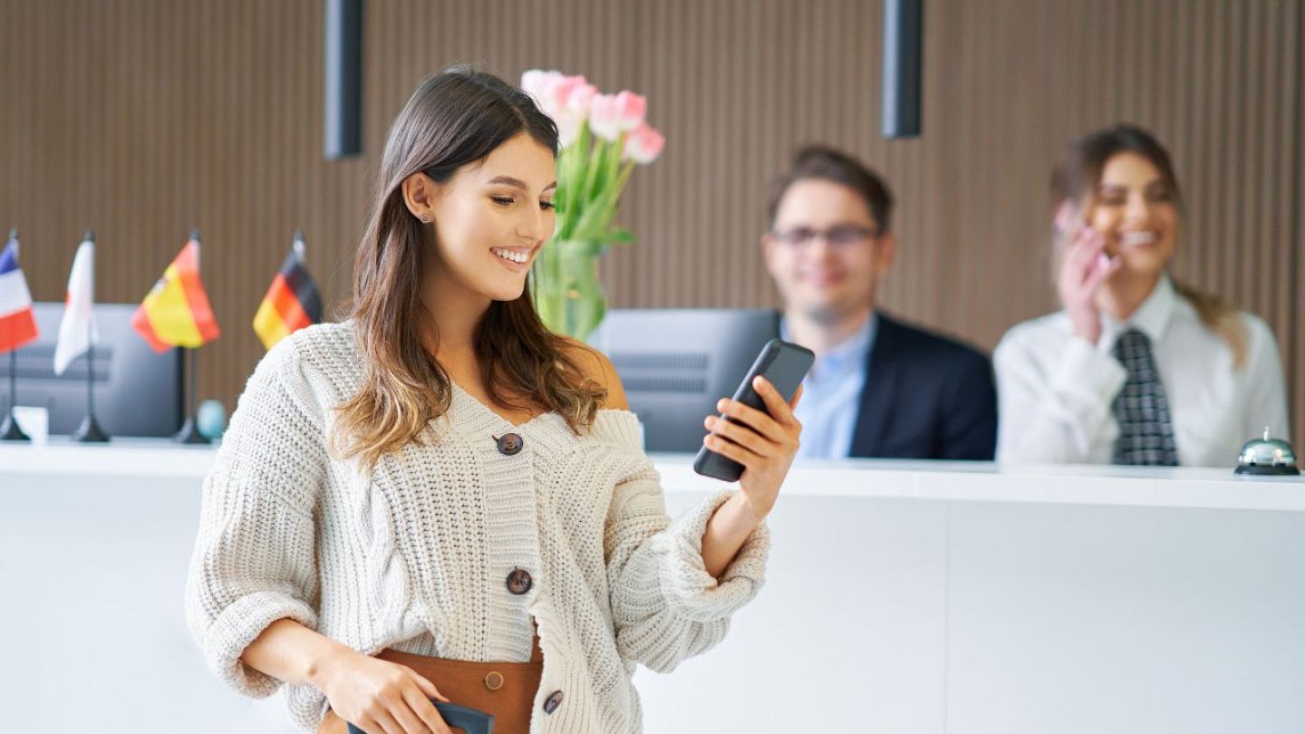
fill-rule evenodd
<path id="1" fill-rule="evenodd" d="M 437 185 L 431 204 L 437 286 L 449 279 L 492 300 L 515 300 L 553 234 L 553 154 L 527 133 Z"/>

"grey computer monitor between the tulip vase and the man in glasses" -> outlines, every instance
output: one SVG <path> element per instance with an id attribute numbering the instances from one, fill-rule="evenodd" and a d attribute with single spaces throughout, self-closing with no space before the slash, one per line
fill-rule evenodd
<path id="1" fill-rule="evenodd" d="M 696 452 L 767 341 L 779 313 L 739 308 L 612 310 L 589 343 L 607 354 L 652 452 Z"/>

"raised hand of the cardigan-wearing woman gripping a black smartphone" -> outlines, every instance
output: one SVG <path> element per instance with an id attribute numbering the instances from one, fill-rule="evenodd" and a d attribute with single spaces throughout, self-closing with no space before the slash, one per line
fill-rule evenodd
<path id="1" fill-rule="evenodd" d="M 752 387 L 766 404 L 769 415 L 741 402 L 722 398 L 716 407 L 733 418 L 733 422 L 709 415 L 705 426 L 711 432 L 702 441 L 720 456 L 743 464 L 744 473 L 739 478 L 739 486 L 761 522 L 775 505 L 779 486 L 784 483 L 797 453 L 803 426 L 793 417 L 793 407 L 803 397 L 803 388 L 799 387 L 793 393 L 792 402 L 784 402 L 779 391 L 765 377 L 753 379 Z"/>

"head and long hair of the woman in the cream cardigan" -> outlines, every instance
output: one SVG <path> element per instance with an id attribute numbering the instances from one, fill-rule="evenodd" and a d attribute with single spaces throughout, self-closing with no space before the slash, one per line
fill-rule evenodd
<path id="1" fill-rule="evenodd" d="M 462 112 L 474 106 L 480 115 Z M 526 291 L 552 234 L 556 152 L 552 120 L 489 74 L 428 80 L 399 112 L 355 261 L 369 389 L 339 409 L 342 457 L 372 464 L 418 438 L 449 409 L 453 381 L 514 415 L 557 411 L 573 431 L 592 422 L 600 387 Z"/>

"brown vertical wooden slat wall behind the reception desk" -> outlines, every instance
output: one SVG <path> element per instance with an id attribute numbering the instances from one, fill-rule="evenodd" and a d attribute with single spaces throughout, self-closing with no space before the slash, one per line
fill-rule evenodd
<path id="1" fill-rule="evenodd" d="M 603 263 L 613 304 L 775 306 L 765 184 L 805 141 L 878 167 L 900 206 L 882 298 L 992 347 L 1054 307 L 1052 161 L 1116 120 L 1151 128 L 1186 189 L 1176 273 L 1268 320 L 1305 436 L 1305 9 L 1300 0 L 930 0 L 924 137 L 878 137 L 880 3 L 373 0 L 364 140 L 321 158 L 318 0 L 0 0 L 0 227 L 38 299 L 94 227 L 98 295 L 134 302 L 192 226 L 223 337 L 201 392 L 234 404 L 249 329 L 299 226 L 329 303 L 394 114 L 454 61 L 586 73 L 650 97 L 667 152 L 630 184 L 641 243 Z"/>

